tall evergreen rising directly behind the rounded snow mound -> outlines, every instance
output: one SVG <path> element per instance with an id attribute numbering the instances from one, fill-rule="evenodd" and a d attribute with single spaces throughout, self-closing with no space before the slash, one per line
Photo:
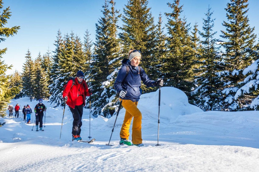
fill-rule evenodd
<path id="1" fill-rule="evenodd" d="M 163 59 L 164 77 L 167 78 L 165 85 L 174 86 L 184 91 L 187 95 L 191 91 L 193 77 L 193 61 L 195 52 L 192 48 L 191 37 L 188 34 L 189 24 L 186 18 L 180 18 L 182 6 L 179 6 L 180 0 L 174 0 L 174 3 L 167 3 L 173 9 L 171 13 L 165 13 L 167 16 L 167 55 Z"/>

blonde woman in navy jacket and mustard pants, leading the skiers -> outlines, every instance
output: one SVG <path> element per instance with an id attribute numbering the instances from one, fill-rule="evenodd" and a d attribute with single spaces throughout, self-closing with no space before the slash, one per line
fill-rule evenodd
<path id="1" fill-rule="evenodd" d="M 114 83 L 114 88 L 119 93 L 122 105 L 126 109 L 124 121 L 120 131 L 120 144 L 144 146 L 141 136 L 141 119 L 142 114 L 137 108 L 141 95 L 141 81 L 148 87 L 163 86 L 163 80 L 157 79 L 153 81 L 148 78 L 143 68 L 139 67 L 141 54 L 139 50 L 130 49 L 128 59 L 122 61 L 122 68 L 118 72 L 118 76 Z M 128 67 L 127 67 L 128 66 Z M 128 70 L 127 70 L 128 68 Z M 126 71 L 128 74 L 126 76 Z M 133 117 L 132 125 L 132 144 L 129 140 L 130 123 Z"/>

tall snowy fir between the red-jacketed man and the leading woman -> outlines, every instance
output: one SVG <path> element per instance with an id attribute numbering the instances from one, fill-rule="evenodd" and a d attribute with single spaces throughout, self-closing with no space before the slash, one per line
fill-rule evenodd
<path id="1" fill-rule="evenodd" d="M 110 4 L 110 5 L 109 5 Z M 110 7 L 111 6 L 111 7 Z M 119 58 L 119 40 L 116 38 L 117 22 L 120 17 L 115 9 L 114 1 L 104 1 L 102 6 L 103 16 L 98 19 L 96 26 L 95 55 L 91 60 L 89 83 L 94 90 L 92 95 L 93 115 L 108 117 L 114 113 L 110 102 L 113 100 L 114 77 L 111 73 L 119 66 L 116 60 Z"/>

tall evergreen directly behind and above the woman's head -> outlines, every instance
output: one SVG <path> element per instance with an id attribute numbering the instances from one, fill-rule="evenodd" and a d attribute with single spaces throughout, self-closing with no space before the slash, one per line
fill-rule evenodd
<path id="1" fill-rule="evenodd" d="M 147 0 L 128 0 L 127 5 L 123 8 L 122 32 L 119 38 L 123 45 L 123 57 L 127 58 L 128 51 L 133 48 L 141 51 L 140 66 L 146 71 L 151 79 L 160 76 L 157 66 L 150 65 L 155 58 L 157 48 L 157 25 L 154 24 L 154 17 L 148 8 Z M 143 93 L 150 92 L 157 88 L 141 87 Z"/>

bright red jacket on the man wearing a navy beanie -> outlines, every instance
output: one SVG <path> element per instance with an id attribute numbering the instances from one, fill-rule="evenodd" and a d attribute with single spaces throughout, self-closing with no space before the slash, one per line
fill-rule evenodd
<path id="1" fill-rule="evenodd" d="M 67 105 L 73 109 L 75 106 L 79 106 L 81 104 L 85 106 L 85 96 L 90 96 L 85 80 L 79 84 L 77 78 L 75 78 L 75 83 L 73 86 L 72 84 L 73 80 L 68 81 L 67 86 L 63 91 L 63 98 L 67 96 Z"/>

